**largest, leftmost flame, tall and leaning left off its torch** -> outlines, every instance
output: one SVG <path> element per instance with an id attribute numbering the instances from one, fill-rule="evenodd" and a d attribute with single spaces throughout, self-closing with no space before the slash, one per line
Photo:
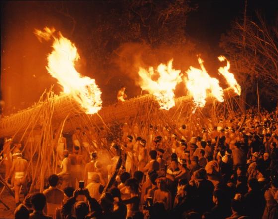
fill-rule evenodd
<path id="1" fill-rule="evenodd" d="M 101 109 L 101 91 L 95 80 L 81 76 L 75 69 L 75 63 L 80 56 L 75 45 L 59 32 L 58 37 L 54 37 L 55 29 L 44 28 L 44 31 L 35 30 L 39 39 L 54 39 L 53 50 L 48 55 L 48 73 L 58 80 L 63 86 L 64 93 L 70 93 L 76 101 L 85 109 L 87 114 L 97 113 Z"/>

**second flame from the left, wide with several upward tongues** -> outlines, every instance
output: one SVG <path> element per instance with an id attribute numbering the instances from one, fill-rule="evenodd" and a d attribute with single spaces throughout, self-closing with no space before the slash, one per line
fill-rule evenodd
<path id="1" fill-rule="evenodd" d="M 171 59 L 167 65 L 161 63 L 155 72 L 153 67 L 150 67 L 148 71 L 144 68 L 139 68 L 138 74 L 142 79 L 139 85 L 143 90 L 147 90 L 156 97 L 160 109 L 169 110 L 175 106 L 174 90 L 176 85 L 182 81 L 180 75 L 181 71 L 173 69 L 172 64 L 173 59 Z M 157 80 L 152 79 L 155 73 L 159 75 Z"/>

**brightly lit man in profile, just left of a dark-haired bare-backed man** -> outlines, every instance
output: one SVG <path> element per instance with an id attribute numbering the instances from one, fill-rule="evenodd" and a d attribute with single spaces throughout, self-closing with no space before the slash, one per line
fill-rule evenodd
<path id="1" fill-rule="evenodd" d="M 71 186 L 71 177 L 70 177 L 71 163 L 70 163 L 70 159 L 68 158 L 69 157 L 68 150 L 63 151 L 63 157 L 64 157 L 64 159 L 62 160 L 62 163 L 61 163 L 62 171 L 57 174 L 58 176 L 61 176 L 63 178 L 61 189 Z"/>

